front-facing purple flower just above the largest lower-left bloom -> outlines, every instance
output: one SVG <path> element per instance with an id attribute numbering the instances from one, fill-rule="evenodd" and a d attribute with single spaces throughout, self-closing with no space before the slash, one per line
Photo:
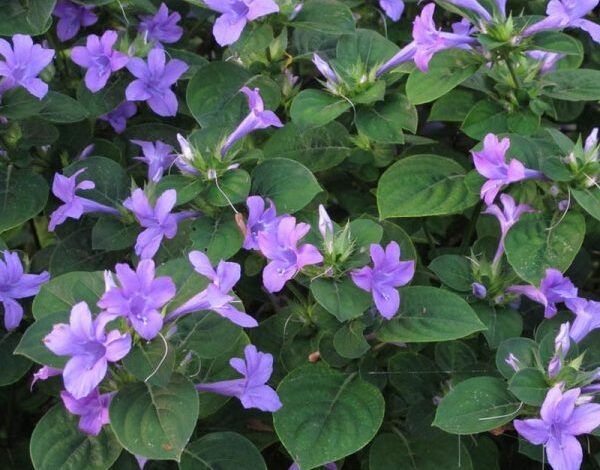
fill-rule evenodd
<path id="1" fill-rule="evenodd" d="M 111 286 L 98 301 L 107 313 L 126 317 L 133 329 L 145 340 L 153 339 L 163 326 L 160 310 L 175 297 L 170 277 L 154 277 L 154 261 L 140 261 L 134 271 L 127 264 L 115 266 L 120 287 Z"/>

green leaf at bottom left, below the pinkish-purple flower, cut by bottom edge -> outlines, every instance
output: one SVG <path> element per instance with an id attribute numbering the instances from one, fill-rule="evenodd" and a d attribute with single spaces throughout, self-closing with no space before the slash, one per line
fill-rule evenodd
<path id="1" fill-rule="evenodd" d="M 30 452 L 36 470 L 107 470 L 121 446 L 110 427 L 98 436 L 78 429 L 79 416 L 67 413 L 62 403 L 51 408 L 31 435 Z"/>

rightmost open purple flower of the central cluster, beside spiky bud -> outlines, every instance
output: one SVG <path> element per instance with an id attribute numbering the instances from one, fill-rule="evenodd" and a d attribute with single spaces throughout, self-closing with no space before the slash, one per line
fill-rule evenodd
<path id="1" fill-rule="evenodd" d="M 397 287 L 405 286 L 415 275 L 414 261 L 400 261 L 400 246 L 390 242 L 385 248 L 371 245 L 373 267 L 365 266 L 350 273 L 352 281 L 362 290 L 371 292 L 375 306 L 389 320 L 400 308 Z"/>

